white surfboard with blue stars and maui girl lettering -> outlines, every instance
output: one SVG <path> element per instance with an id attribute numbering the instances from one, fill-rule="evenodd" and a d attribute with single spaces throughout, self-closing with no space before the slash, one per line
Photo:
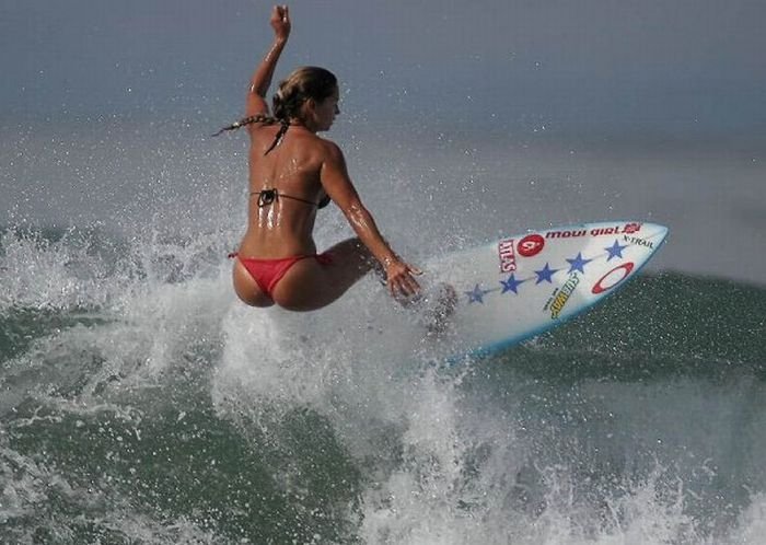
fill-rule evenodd
<path id="1" fill-rule="evenodd" d="M 490 353 L 557 327 L 635 277 L 668 228 L 641 221 L 557 227 L 504 236 L 429 263 L 457 303 L 452 357 Z"/>

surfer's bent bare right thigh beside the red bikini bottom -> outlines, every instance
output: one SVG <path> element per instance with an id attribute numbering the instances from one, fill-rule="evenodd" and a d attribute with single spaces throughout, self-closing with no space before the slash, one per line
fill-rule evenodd
<path id="1" fill-rule="evenodd" d="M 326 306 L 372 268 L 367 247 L 348 239 L 330 247 L 329 259 L 306 257 L 286 272 L 274 290 L 274 300 L 285 309 L 311 311 Z"/>

